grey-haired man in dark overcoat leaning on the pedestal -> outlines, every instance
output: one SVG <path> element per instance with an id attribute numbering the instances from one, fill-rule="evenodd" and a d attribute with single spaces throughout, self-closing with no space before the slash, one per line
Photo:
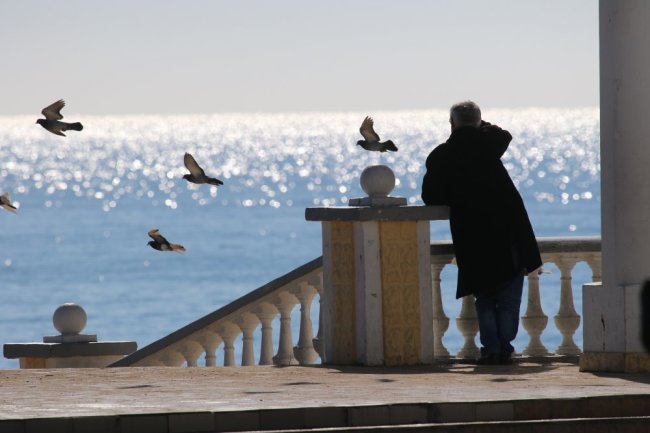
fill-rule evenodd
<path id="1" fill-rule="evenodd" d="M 422 200 L 450 207 L 456 298 L 475 297 L 478 363 L 510 364 L 524 275 L 542 265 L 524 202 L 501 162 L 512 136 L 481 120 L 472 101 L 453 105 L 449 122 L 449 139 L 427 158 Z"/>

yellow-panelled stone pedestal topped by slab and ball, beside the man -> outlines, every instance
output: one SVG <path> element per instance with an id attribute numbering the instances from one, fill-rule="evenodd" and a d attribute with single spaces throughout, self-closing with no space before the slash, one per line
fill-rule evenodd
<path id="1" fill-rule="evenodd" d="M 391 206 L 399 198 L 373 195 L 363 180 L 361 206 L 306 211 L 323 225 L 323 362 L 432 363 L 429 220 L 448 209 Z"/>

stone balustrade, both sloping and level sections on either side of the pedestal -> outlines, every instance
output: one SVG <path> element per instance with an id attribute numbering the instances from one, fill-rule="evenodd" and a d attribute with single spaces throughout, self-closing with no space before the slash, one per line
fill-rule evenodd
<path id="1" fill-rule="evenodd" d="M 560 295 L 557 314 L 553 317 L 561 343 L 548 348 L 542 342 L 547 329 L 548 316 L 542 308 L 540 278 L 551 278 L 545 273 L 528 275 L 527 300 L 522 302 L 521 332 L 528 335 L 522 356 L 546 357 L 551 355 L 577 355 L 581 349 L 574 341 L 580 325 L 580 315 L 573 301 L 572 270 L 578 262 L 585 262 L 592 271 L 592 280 L 600 281 L 601 255 L 599 237 L 538 238 L 545 264 L 559 269 Z M 441 274 L 453 264 L 453 250 L 449 241 L 432 242 L 431 273 L 433 282 L 434 357 L 439 362 L 470 359 L 479 355 L 476 345 L 478 323 L 472 298 L 462 299 L 460 313 L 454 323 L 463 337 L 457 353 L 445 347 L 444 336 L 451 321 L 445 314 L 441 293 Z M 455 283 L 454 283 L 455 285 Z M 323 292 L 322 259 L 311 262 L 254 290 L 213 313 L 151 343 L 113 366 L 217 366 L 217 351 L 223 351 L 223 366 L 313 364 L 319 361 L 323 344 L 323 317 L 321 294 Z M 319 320 L 316 336 L 312 323 L 312 308 L 317 308 Z M 292 314 L 299 308 L 299 316 Z M 276 320 L 278 319 L 279 320 Z M 294 320 L 298 318 L 299 320 Z M 294 326 L 294 321 L 295 323 Z M 278 323 L 279 322 L 279 323 Z M 274 323 L 279 329 L 274 330 Z M 294 336 L 293 331 L 298 330 Z M 274 332 L 275 331 L 275 332 Z M 277 342 L 274 341 L 277 335 Z M 255 351 L 255 345 L 258 351 Z M 235 349 L 237 347 L 237 350 Z M 235 354 L 240 354 L 236 359 Z M 257 353 L 257 355 L 256 355 Z"/>

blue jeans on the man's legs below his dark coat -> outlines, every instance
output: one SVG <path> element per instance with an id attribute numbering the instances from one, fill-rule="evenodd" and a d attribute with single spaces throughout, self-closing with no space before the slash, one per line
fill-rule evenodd
<path id="1" fill-rule="evenodd" d="M 519 306 L 524 287 L 524 272 L 497 287 L 494 293 L 481 293 L 476 298 L 476 314 L 482 356 L 510 356 L 512 340 L 519 328 Z"/>

